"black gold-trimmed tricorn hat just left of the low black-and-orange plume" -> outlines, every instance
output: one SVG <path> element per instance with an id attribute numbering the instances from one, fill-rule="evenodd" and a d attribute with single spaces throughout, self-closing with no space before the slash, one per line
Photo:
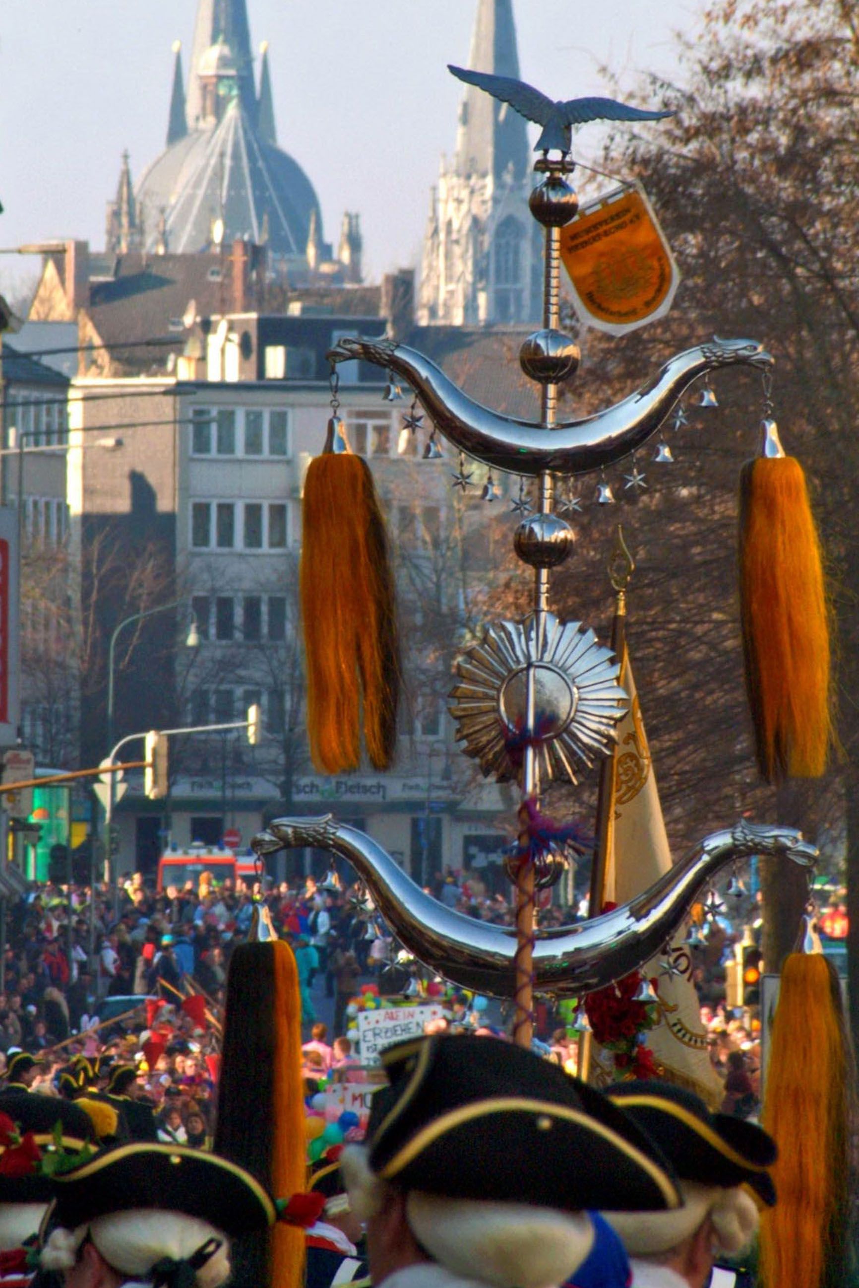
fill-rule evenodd
<path id="1" fill-rule="evenodd" d="M 99 1216 L 156 1208 L 200 1217 L 231 1238 L 264 1230 L 274 1202 L 250 1172 L 183 1145 L 118 1145 L 54 1177 L 50 1225 L 70 1230 Z"/>

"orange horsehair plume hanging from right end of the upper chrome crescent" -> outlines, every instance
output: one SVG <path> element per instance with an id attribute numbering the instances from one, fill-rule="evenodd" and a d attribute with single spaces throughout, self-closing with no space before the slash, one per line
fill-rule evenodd
<path id="1" fill-rule="evenodd" d="M 755 750 L 768 782 L 818 778 L 832 743 L 829 613 L 802 466 L 765 419 L 741 478 L 739 590 Z"/>

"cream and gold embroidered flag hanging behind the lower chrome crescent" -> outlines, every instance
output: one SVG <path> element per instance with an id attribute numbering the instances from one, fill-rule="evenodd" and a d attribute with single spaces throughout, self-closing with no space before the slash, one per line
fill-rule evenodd
<path id="1" fill-rule="evenodd" d="M 621 684 L 630 706 L 618 725 L 612 752 L 614 808 L 610 813 L 605 864 L 605 900 L 627 903 L 671 868 L 671 850 L 662 818 L 662 805 L 653 773 L 653 759 L 644 732 L 641 706 L 632 677 L 628 649 L 622 650 Z M 659 1023 L 647 1033 L 659 1077 L 697 1092 L 717 1109 L 722 1086 L 710 1063 L 707 1033 L 701 1023 L 698 994 L 692 981 L 692 956 L 677 935 L 667 958 L 679 974 L 661 974 L 666 957 L 641 967 L 656 979 Z M 616 1078 L 610 1052 L 594 1043 L 592 1081 Z"/>

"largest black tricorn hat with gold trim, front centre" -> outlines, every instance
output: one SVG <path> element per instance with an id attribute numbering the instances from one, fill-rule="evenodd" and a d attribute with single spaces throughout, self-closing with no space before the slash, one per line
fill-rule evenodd
<path id="1" fill-rule="evenodd" d="M 497 1038 L 434 1036 L 381 1052 L 367 1130 L 384 1180 L 447 1198 L 581 1211 L 680 1206 L 634 1122 L 556 1064 Z"/>

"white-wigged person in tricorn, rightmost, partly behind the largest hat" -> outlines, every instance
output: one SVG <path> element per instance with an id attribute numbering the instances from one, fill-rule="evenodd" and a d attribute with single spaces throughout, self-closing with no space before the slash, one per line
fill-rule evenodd
<path id="1" fill-rule="evenodd" d="M 759 1202 L 775 1203 L 768 1171 L 775 1144 L 755 1123 L 712 1114 L 667 1082 L 623 1082 L 608 1095 L 658 1142 L 684 1198 L 677 1212 L 603 1213 L 630 1253 L 632 1288 L 704 1288 L 715 1256 L 735 1256 L 751 1243 Z"/>

